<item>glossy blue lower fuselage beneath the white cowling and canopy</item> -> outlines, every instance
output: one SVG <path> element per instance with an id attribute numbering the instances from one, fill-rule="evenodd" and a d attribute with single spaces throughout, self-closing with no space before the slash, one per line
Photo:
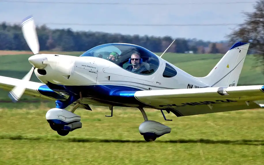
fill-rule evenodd
<path id="1" fill-rule="evenodd" d="M 49 84 L 48 84 L 49 85 Z M 85 86 L 65 86 L 59 85 L 60 89 L 56 89 L 56 86 L 50 88 L 47 85 L 42 85 L 39 87 L 39 93 L 58 99 L 58 100 L 65 100 L 65 95 L 67 98 L 69 95 L 80 95 L 82 93 L 83 98 L 90 98 L 98 102 L 103 102 L 106 104 L 122 106 L 122 104 L 140 104 L 143 103 L 139 102 L 135 98 L 135 92 L 141 91 L 142 89 L 137 89 L 133 87 L 125 87 L 125 86 L 118 86 L 118 85 L 85 85 Z M 63 90 L 63 89 L 64 90 Z M 54 90 L 54 91 L 53 91 Z M 56 91 L 56 92 L 55 92 Z M 61 94 L 61 93 L 64 93 Z M 69 93 L 69 94 L 68 94 Z"/>

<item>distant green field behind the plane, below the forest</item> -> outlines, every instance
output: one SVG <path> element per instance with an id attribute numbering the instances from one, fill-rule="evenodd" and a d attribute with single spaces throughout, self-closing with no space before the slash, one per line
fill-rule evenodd
<path id="1" fill-rule="evenodd" d="M 25 54 L 27 53 L 27 54 Z M 64 55 L 80 56 L 83 52 L 41 52 L 41 53 L 56 53 Z M 6 55 L 5 55 L 6 54 Z M 10 55 L 12 54 L 12 55 Z M 156 53 L 161 55 L 161 53 Z M 25 51 L 0 51 L 0 75 L 9 76 L 13 78 L 23 78 L 24 75 L 32 67 L 28 62 L 28 58 L 32 55 L 31 52 Z M 170 63 L 176 65 L 180 69 L 188 72 L 193 76 L 206 76 L 216 63 L 222 58 L 219 54 L 176 54 L 165 53 L 163 58 Z M 255 67 L 259 65 L 259 61 L 252 55 L 248 55 L 244 62 L 244 66 L 240 75 L 238 85 L 254 85 L 263 84 L 264 75 L 262 67 Z M 37 77 L 33 74 L 32 81 L 39 82 Z M 23 98 L 30 98 L 24 97 Z M 7 99 L 7 92 L 1 91 L 0 100 Z"/>

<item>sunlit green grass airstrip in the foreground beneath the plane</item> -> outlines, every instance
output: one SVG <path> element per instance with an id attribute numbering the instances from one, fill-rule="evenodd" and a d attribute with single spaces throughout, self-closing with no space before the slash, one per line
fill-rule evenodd
<path id="1" fill-rule="evenodd" d="M 150 120 L 172 128 L 145 142 L 144 121 L 136 108 L 77 109 L 83 128 L 59 136 L 51 130 L 45 105 L 0 109 L 0 164 L 232 164 L 264 163 L 263 110 L 241 110 L 189 117 L 147 109 Z"/>

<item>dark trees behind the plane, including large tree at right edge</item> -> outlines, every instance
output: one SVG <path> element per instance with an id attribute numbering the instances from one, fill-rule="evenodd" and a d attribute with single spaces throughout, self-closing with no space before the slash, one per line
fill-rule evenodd
<path id="1" fill-rule="evenodd" d="M 221 53 L 225 54 L 237 41 L 250 42 L 248 54 L 255 54 L 264 62 L 264 0 L 258 0 L 253 12 L 244 13 L 245 21 L 227 36 L 227 42 L 209 42 L 197 39 L 175 38 L 167 52 Z M 152 52 L 163 52 L 174 40 L 170 36 L 122 35 L 71 29 L 37 27 L 40 50 L 86 51 L 106 43 L 130 43 L 143 46 Z M 30 50 L 20 25 L 0 23 L 0 50 Z M 257 50 L 252 51 L 252 50 Z M 263 70 L 264 72 L 264 70 Z"/>

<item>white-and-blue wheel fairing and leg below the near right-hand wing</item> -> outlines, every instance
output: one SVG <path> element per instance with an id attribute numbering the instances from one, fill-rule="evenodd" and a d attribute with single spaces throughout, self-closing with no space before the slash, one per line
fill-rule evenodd
<path id="1" fill-rule="evenodd" d="M 171 128 L 167 127 L 166 125 L 163 125 L 156 121 L 148 120 L 148 117 L 143 108 L 139 107 L 138 109 L 142 113 L 145 120 L 142 124 L 139 125 L 139 133 L 143 135 L 144 139 L 147 142 L 155 141 L 156 138 L 171 132 Z"/>

